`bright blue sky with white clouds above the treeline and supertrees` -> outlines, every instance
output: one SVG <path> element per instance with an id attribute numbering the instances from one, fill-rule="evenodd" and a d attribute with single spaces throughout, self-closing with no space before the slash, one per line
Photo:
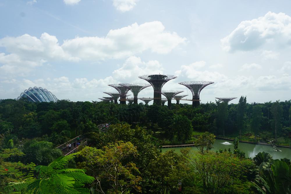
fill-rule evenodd
<path id="1" fill-rule="evenodd" d="M 177 76 L 162 90 L 187 98 L 179 82 L 213 81 L 202 103 L 289 100 L 290 7 L 288 0 L 0 0 L 0 99 L 36 86 L 60 100 L 100 101 L 116 91 L 108 84 L 160 73 Z M 152 97 L 152 87 L 139 96 Z"/>

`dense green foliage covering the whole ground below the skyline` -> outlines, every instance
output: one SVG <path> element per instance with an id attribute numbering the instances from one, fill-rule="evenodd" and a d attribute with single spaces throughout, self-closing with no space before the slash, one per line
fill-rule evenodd
<path id="1" fill-rule="evenodd" d="M 251 160 L 238 149 L 241 140 L 289 144 L 290 105 L 1 100 L 0 193 L 290 193 L 288 159 L 263 152 Z M 90 147 L 68 156 L 55 149 L 81 134 Z M 233 153 L 213 152 L 214 134 L 241 137 Z M 198 151 L 160 149 L 184 143 Z"/>

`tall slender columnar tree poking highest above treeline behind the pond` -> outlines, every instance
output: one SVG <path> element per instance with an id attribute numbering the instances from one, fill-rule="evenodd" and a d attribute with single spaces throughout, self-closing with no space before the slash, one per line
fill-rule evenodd
<path id="1" fill-rule="evenodd" d="M 237 106 L 237 128 L 239 130 L 239 137 L 242 137 L 242 131 L 245 128 L 245 114 L 246 114 L 246 96 L 239 98 Z"/>

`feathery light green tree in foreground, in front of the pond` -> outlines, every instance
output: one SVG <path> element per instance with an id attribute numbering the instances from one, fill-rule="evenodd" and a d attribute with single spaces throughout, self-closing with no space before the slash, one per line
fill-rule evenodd
<path id="1" fill-rule="evenodd" d="M 251 170 L 249 159 L 240 159 L 228 152 L 193 155 L 189 173 L 196 172 L 205 192 L 203 193 L 250 193 Z"/>

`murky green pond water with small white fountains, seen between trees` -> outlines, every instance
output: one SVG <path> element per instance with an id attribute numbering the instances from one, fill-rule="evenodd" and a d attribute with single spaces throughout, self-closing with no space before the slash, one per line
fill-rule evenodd
<path id="1" fill-rule="evenodd" d="M 223 142 L 229 142 L 229 145 L 223 144 Z M 212 151 L 219 151 L 219 149 L 227 149 L 230 148 L 233 152 L 233 141 L 230 140 L 219 140 L 217 139 L 213 144 Z M 196 147 L 184 147 L 190 148 L 191 151 L 197 151 Z M 165 152 L 167 150 L 174 149 L 176 152 L 179 152 L 181 147 L 176 148 L 163 148 L 162 151 Z M 244 151 L 246 153 L 246 157 L 253 158 L 259 152 L 265 151 L 268 152 L 273 156 L 273 159 L 280 159 L 280 158 L 288 158 L 291 160 L 291 148 L 279 147 L 281 151 L 274 151 L 272 146 L 268 145 L 259 145 L 259 144 L 250 144 L 250 143 L 243 143 L 239 142 L 238 149 Z"/>

